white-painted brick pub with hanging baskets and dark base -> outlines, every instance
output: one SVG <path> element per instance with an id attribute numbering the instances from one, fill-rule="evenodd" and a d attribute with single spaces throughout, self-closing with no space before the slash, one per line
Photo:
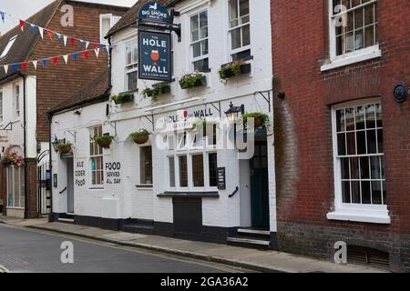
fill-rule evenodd
<path id="1" fill-rule="evenodd" d="M 275 248 L 270 13 L 269 0 L 131 7 L 107 35 L 109 74 L 50 111 L 50 218 Z"/>

